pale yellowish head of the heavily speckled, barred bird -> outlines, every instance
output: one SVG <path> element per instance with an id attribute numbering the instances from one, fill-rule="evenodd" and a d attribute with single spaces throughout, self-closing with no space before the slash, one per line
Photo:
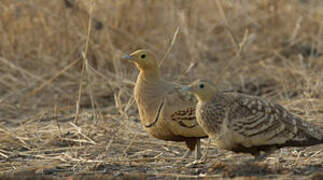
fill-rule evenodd
<path id="1" fill-rule="evenodd" d="M 185 91 L 193 93 L 199 101 L 210 100 L 216 93 L 215 89 L 215 85 L 206 80 L 196 80 L 184 87 Z"/>

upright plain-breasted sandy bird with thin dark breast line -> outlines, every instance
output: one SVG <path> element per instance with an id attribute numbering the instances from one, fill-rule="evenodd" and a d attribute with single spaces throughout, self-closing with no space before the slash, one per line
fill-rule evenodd
<path id="1" fill-rule="evenodd" d="M 149 50 L 137 50 L 125 59 L 136 64 L 140 73 L 134 89 L 140 120 L 153 137 L 166 141 L 184 141 L 184 157 L 195 150 L 201 157 L 200 138 L 207 137 L 195 118 L 194 96 L 183 86 L 161 78 L 158 61 Z"/>

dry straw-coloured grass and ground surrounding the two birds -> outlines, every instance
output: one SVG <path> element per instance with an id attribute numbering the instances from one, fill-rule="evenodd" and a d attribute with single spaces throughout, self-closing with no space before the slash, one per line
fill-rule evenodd
<path id="1" fill-rule="evenodd" d="M 178 163 L 182 144 L 143 131 L 120 57 L 152 49 L 165 79 L 207 77 L 323 126 L 322 19 L 320 0 L 0 1 L 1 175 L 320 179 L 322 145 Z"/>

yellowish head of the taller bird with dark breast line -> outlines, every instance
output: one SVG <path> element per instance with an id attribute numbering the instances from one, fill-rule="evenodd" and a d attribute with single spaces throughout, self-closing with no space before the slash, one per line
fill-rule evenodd
<path id="1" fill-rule="evenodd" d="M 135 63 L 140 71 L 157 71 L 159 69 L 155 55 L 147 49 L 137 50 L 123 58 Z"/>

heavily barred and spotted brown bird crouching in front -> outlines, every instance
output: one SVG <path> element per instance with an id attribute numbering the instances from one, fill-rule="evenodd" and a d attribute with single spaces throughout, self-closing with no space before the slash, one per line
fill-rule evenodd
<path id="1" fill-rule="evenodd" d="M 323 129 L 279 104 L 239 93 L 221 93 L 208 81 L 184 88 L 198 99 L 199 125 L 222 149 L 257 154 L 272 147 L 323 143 Z"/>

